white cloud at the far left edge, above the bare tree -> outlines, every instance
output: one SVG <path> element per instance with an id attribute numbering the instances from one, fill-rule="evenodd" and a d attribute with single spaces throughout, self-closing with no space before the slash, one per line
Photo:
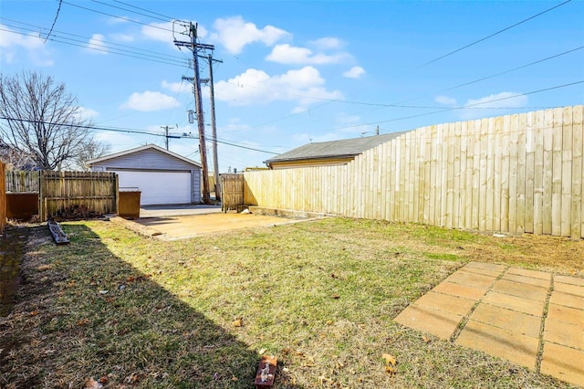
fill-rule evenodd
<path id="1" fill-rule="evenodd" d="M 13 63 L 22 51 L 30 61 L 36 66 L 52 66 L 54 61 L 50 58 L 50 53 L 43 44 L 44 37 L 38 35 L 25 35 L 11 30 L 0 24 L 0 61 Z"/>

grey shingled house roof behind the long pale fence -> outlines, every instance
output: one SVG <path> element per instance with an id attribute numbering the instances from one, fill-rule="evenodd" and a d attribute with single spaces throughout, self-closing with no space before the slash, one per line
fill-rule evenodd
<path id="1" fill-rule="evenodd" d="M 343 139 L 341 141 L 308 143 L 289 152 L 276 155 L 264 163 L 284 163 L 305 160 L 323 160 L 329 158 L 347 158 L 359 155 L 361 152 L 379 146 L 381 143 L 389 142 L 399 137 L 405 132 L 391 132 L 383 135 L 367 136 L 353 139 Z"/>

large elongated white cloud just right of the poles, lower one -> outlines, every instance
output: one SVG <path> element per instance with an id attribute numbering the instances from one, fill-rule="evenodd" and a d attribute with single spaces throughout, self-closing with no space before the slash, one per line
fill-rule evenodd
<path id="1" fill-rule="evenodd" d="M 232 105 L 266 104 L 272 101 L 297 101 L 306 107 L 316 100 L 340 100 L 339 90 L 328 91 L 317 68 L 307 66 L 270 76 L 263 70 L 249 68 L 233 79 L 215 84 L 215 99 Z M 297 108 L 298 110 L 298 108 Z"/>

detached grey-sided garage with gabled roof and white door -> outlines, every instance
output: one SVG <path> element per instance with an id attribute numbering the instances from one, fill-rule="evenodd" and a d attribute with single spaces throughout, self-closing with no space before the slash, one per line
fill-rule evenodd
<path id="1" fill-rule="evenodd" d="M 86 163 L 92 172 L 115 172 L 120 191 L 141 191 L 140 205 L 201 203 L 201 164 L 147 144 Z"/>

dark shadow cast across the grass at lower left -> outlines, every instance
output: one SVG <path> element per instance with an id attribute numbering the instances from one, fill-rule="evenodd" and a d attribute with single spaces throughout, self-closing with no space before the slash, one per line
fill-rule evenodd
<path id="1" fill-rule="evenodd" d="M 10 352 L 0 386 L 249 388 L 259 355 L 148 274 L 114 256 L 87 226 L 53 245 L 31 228 L 14 310 L 0 318 Z M 277 388 L 301 389 L 276 375 Z"/>

